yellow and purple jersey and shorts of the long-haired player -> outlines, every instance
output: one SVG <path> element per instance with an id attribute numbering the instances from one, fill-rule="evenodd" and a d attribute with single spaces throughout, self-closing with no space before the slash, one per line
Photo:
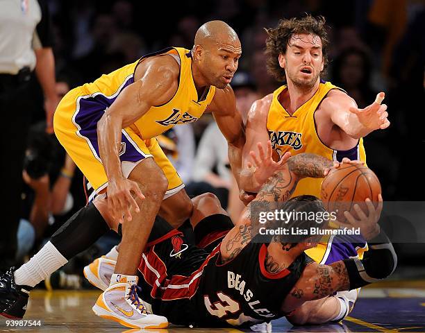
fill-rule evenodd
<path id="1" fill-rule="evenodd" d="M 332 89 L 340 89 L 339 87 L 322 80 L 317 92 L 293 114 L 289 114 L 278 99 L 285 89 L 287 89 L 287 86 L 283 85 L 273 92 L 273 99 L 267 116 L 267 131 L 272 147 L 279 157 L 289 151 L 292 156 L 299 153 L 314 153 L 326 157 L 328 160 L 339 162 L 344 157 L 349 157 L 350 160 L 366 162 L 363 139 L 359 139 L 356 146 L 353 146 L 348 151 L 337 151 L 326 146 L 317 134 L 315 112 L 328 92 Z M 301 179 L 292 196 L 310 194 L 320 198 L 322 180 L 323 178 Z M 367 250 L 367 244 L 363 237 L 358 236 L 348 239 L 348 237 L 337 236 L 324 237 L 321 243 L 317 244 L 315 248 L 306 250 L 306 253 L 315 262 L 330 264 L 331 262 L 347 257 L 356 257 L 357 255 L 361 259 L 365 250 Z"/>

